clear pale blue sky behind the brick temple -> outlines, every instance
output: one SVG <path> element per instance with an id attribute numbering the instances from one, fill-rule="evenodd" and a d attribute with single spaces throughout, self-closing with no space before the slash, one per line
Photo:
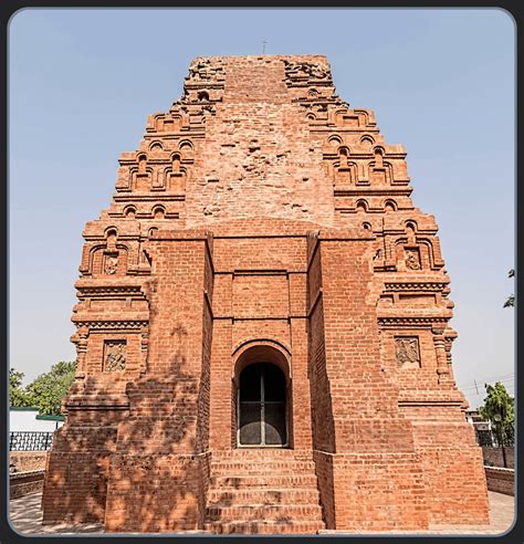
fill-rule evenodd
<path id="1" fill-rule="evenodd" d="M 434 215 L 459 332 L 457 381 L 513 393 L 515 25 L 499 9 L 24 9 L 9 27 L 10 364 L 75 357 L 82 230 L 117 159 L 178 100 L 199 55 L 326 54 L 337 93 L 408 151 Z M 479 384 L 479 395 L 474 387 Z"/>

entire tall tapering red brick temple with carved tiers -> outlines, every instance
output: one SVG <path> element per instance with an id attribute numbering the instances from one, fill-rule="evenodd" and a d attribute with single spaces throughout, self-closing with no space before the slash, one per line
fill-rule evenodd
<path id="1" fill-rule="evenodd" d="M 488 522 L 450 280 L 411 190 L 405 148 L 325 56 L 192 61 L 83 232 L 44 523 Z"/>

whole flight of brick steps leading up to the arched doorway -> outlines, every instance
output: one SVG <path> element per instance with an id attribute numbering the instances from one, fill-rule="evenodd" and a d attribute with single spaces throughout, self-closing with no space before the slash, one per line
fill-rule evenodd
<path id="1" fill-rule="evenodd" d="M 205 530 L 216 534 L 314 534 L 325 529 L 311 452 L 213 452 Z"/>

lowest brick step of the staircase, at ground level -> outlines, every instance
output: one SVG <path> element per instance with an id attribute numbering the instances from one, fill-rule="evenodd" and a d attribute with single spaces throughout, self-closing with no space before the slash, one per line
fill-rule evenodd
<path id="1" fill-rule="evenodd" d="M 214 534 L 316 534 L 322 529 L 325 529 L 324 523 L 316 521 L 248 521 L 205 524 L 205 530 Z"/>

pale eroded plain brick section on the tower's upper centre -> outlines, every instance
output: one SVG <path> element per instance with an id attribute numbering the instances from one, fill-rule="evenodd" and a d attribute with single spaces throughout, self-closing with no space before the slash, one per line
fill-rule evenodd
<path id="1" fill-rule="evenodd" d="M 312 57 L 327 67 L 324 57 Z M 230 218 L 334 219 L 322 149 L 280 57 L 222 57 L 224 91 L 187 196 L 189 224 Z M 210 83 L 213 83 L 212 80 Z"/>

